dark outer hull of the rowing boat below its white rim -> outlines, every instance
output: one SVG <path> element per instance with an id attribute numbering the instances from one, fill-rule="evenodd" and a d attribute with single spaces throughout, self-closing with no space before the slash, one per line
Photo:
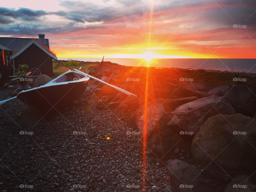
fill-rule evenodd
<path id="1" fill-rule="evenodd" d="M 31 107 L 50 110 L 54 106 L 54 108 L 60 109 L 80 97 L 86 90 L 87 84 L 88 81 L 80 81 L 38 87 L 38 89 L 19 93 L 17 98 Z"/>

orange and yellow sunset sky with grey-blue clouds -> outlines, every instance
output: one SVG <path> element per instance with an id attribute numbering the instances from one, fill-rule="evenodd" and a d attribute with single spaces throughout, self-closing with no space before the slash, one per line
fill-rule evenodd
<path id="1" fill-rule="evenodd" d="M 0 37 L 61 58 L 256 58 L 255 0 L 0 1 Z"/>

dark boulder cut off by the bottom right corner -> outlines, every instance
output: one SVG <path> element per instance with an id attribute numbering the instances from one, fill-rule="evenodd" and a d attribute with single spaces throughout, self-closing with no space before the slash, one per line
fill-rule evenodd
<path id="1" fill-rule="evenodd" d="M 224 192 L 255 192 L 256 185 L 247 175 L 237 175 L 227 184 Z"/>

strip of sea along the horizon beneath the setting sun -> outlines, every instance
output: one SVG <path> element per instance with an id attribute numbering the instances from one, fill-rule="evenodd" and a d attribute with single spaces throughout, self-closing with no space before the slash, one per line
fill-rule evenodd
<path id="1" fill-rule="evenodd" d="M 102 58 L 58 58 L 60 60 L 73 59 L 78 61 L 102 61 Z M 256 59 L 144 59 L 104 58 L 104 61 L 126 66 L 151 66 L 183 69 L 207 69 L 220 71 L 239 71 L 256 73 Z"/>

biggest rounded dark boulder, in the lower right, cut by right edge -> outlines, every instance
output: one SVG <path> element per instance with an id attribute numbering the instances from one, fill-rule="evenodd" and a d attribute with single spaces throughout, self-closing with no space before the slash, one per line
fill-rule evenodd
<path id="1" fill-rule="evenodd" d="M 192 153 L 200 161 L 214 159 L 220 166 L 254 169 L 256 121 L 242 114 L 218 114 L 207 119 L 192 142 Z"/>

